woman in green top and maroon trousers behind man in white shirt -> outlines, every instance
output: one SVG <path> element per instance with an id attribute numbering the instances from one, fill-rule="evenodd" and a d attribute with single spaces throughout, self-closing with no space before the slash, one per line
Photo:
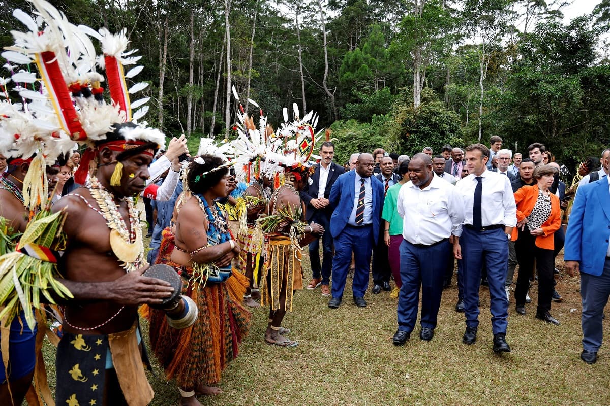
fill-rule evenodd
<path id="1" fill-rule="evenodd" d="M 390 298 L 397 299 L 400 287 L 403 282 L 400 279 L 400 244 L 403 242 L 403 218 L 398 215 L 397 201 L 398 191 L 403 184 L 409 181 L 409 177 L 406 173 L 409 172 L 409 161 L 403 161 L 398 167 L 398 175 L 401 180 L 397 184 L 387 189 L 386 200 L 383 205 L 383 212 L 381 218 L 384 219 L 384 241 L 388 248 L 388 257 L 390 262 L 390 269 L 394 276 L 394 282 L 396 287 L 390 292 Z"/>

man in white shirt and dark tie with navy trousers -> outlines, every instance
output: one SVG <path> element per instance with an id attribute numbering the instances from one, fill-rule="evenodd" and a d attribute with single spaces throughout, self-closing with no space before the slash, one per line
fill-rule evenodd
<path id="1" fill-rule="evenodd" d="M 517 206 L 508 177 L 486 169 L 489 150 L 483 144 L 466 148 L 470 175 L 456 185 L 464 202 L 464 226 L 456 229 L 453 252 L 464 259 L 464 344 L 476 341 L 479 325 L 479 285 L 481 267 L 487 265 L 490 311 L 492 313 L 493 351 L 510 352 L 506 343 L 508 299 L 504 282 L 508 271 L 508 240 L 517 225 Z M 485 204 L 483 205 L 483 201 Z"/>

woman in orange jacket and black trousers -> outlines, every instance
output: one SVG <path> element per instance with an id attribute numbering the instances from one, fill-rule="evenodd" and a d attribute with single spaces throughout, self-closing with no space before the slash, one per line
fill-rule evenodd
<path id="1" fill-rule="evenodd" d="M 523 186 L 515 192 L 517 226 L 512 231 L 519 262 L 519 278 L 515 290 L 517 313 L 525 315 L 525 296 L 529 278 L 538 268 L 538 307 L 536 318 L 559 325 L 551 316 L 553 294 L 553 234 L 561 227 L 559 198 L 549 191 L 557 169 L 543 165 L 534 169 L 536 184 Z"/>

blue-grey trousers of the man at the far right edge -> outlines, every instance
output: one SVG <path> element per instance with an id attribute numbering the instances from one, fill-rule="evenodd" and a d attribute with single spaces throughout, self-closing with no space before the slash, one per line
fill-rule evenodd
<path id="1" fill-rule="evenodd" d="M 597 352 L 603 339 L 603 312 L 610 296 L 610 258 L 606 258 L 600 276 L 580 274 L 583 296 L 583 349 Z"/>

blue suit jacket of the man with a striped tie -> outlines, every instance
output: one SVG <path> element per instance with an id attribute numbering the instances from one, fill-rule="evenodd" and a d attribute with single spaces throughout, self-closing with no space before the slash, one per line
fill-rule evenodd
<path id="1" fill-rule="evenodd" d="M 332 185 L 331 201 L 331 235 L 336 238 L 345 228 L 350 220 L 351 211 L 354 208 L 354 197 L 356 196 L 356 170 L 350 170 L 337 178 Z M 371 187 L 373 188 L 373 238 L 377 243 L 379 237 L 379 224 L 381 222 L 381 210 L 383 208 L 383 185 L 376 177 L 371 177 Z"/>

